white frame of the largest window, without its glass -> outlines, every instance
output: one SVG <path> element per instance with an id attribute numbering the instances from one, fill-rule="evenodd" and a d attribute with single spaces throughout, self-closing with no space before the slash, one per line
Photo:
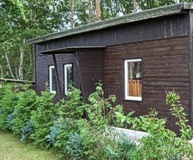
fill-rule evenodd
<path id="1" fill-rule="evenodd" d="M 124 86 L 125 86 L 125 100 L 133 100 L 133 101 L 142 101 L 142 97 L 135 97 L 135 96 L 128 96 L 129 91 L 129 85 L 128 85 L 128 79 L 129 79 L 129 70 L 128 70 L 128 62 L 141 62 L 142 59 L 125 59 L 124 60 Z"/>

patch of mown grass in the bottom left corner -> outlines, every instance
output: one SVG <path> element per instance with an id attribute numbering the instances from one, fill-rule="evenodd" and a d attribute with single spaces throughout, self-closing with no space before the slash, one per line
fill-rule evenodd
<path id="1" fill-rule="evenodd" d="M 52 151 L 21 143 L 19 137 L 0 132 L 0 160 L 57 160 Z"/>

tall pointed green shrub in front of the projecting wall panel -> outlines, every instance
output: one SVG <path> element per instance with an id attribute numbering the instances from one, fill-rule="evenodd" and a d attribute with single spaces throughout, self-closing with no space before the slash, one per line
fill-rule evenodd
<path id="1" fill-rule="evenodd" d="M 84 121 L 81 128 L 84 154 L 91 159 L 105 157 L 105 147 L 108 144 L 106 127 L 114 124 L 115 114 L 122 106 L 115 105 L 116 97 L 111 95 L 104 97 L 102 84 L 96 86 L 96 91 L 89 96 L 89 102 L 85 108 L 89 121 Z"/>

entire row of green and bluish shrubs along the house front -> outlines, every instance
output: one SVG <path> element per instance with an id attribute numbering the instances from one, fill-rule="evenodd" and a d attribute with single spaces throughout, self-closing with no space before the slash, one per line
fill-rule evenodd
<path id="1" fill-rule="evenodd" d="M 166 103 L 178 119 L 180 136 L 166 128 L 166 119 L 158 118 L 155 110 L 140 117 L 134 117 L 134 112 L 124 115 L 123 107 L 115 103 L 115 96 L 105 98 L 101 83 L 90 94 L 88 103 L 83 102 L 76 88 L 66 99 L 53 103 L 55 95 L 49 90 L 37 96 L 28 86 L 20 91 L 14 85 L 4 87 L 0 93 L 0 129 L 21 135 L 21 141 L 32 140 L 40 147 L 53 147 L 61 159 L 193 158 L 193 146 L 188 142 L 193 131 L 175 92 L 167 93 Z M 88 119 L 83 118 L 83 112 Z M 116 124 L 146 131 L 148 136 L 136 145 L 114 133 L 109 126 Z"/>

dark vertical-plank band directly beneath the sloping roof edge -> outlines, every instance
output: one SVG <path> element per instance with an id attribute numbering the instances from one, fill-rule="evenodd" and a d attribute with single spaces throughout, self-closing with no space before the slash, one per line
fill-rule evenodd
<path id="1" fill-rule="evenodd" d="M 158 17 L 40 43 L 38 52 L 72 46 L 107 46 L 188 34 L 188 14 Z"/>

